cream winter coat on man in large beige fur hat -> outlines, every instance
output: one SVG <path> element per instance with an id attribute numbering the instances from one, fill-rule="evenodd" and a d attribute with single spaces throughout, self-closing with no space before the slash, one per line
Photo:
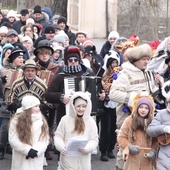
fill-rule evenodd
<path id="1" fill-rule="evenodd" d="M 124 105 L 131 107 L 132 101 L 137 93 L 142 90 L 155 92 L 158 87 L 154 84 L 152 73 L 141 71 L 130 62 L 122 65 L 123 70 L 120 72 L 117 80 L 112 84 L 109 97 L 110 100 L 117 102 L 117 126 L 120 128 L 129 112 L 124 112 Z M 149 88 L 149 86 L 150 88 Z"/>

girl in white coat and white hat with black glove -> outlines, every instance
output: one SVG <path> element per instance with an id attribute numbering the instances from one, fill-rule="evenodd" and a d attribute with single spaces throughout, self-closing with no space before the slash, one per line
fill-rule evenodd
<path id="1" fill-rule="evenodd" d="M 44 152 L 49 144 L 48 125 L 38 98 L 24 96 L 21 104 L 9 126 L 11 170 L 43 170 Z"/>

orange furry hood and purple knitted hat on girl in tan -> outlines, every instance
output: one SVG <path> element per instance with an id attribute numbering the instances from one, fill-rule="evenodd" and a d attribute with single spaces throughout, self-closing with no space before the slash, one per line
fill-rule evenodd
<path id="1" fill-rule="evenodd" d="M 132 103 L 132 113 L 136 115 L 140 105 L 146 104 L 149 107 L 149 114 L 153 116 L 155 103 L 151 95 L 147 91 L 138 93 Z"/>

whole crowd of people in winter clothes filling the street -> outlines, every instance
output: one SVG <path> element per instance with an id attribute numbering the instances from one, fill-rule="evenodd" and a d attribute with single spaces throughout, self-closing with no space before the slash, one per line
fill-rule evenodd
<path id="1" fill-rule="evenodd" d="M 0 12 L 0 160 L 90 170 L 99 146 L 117 170 L 169 169 L 170 37 L 139 43 L 111 31 L 98 52 L 49 7 Z"/>

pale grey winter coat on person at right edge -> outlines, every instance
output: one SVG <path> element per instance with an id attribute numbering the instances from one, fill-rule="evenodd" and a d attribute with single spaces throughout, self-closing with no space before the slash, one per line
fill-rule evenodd
<path id="1" fill-rule="evenodd" d="M 165 134 L 164 127 L 170 126 L 170 112 L 167 109 L 160 110 L 149 124 L 146 132 L 151 137 L 158 137 Z M 168 134 L 169 135 L 169 134 Z M 169 140 L 169 139 L 168 139 Z M 170 169 L 170 144 L 159 145 L 157 151 L 157 170 Z"/>

